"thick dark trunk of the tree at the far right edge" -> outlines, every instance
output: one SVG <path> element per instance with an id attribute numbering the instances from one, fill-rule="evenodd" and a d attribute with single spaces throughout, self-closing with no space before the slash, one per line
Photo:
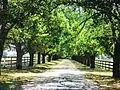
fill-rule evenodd
<path id="1" fill-rule="evenodd" d="M 120 79 L 120 41 L 116 41 L 113 56 L 113 77 Z"/>

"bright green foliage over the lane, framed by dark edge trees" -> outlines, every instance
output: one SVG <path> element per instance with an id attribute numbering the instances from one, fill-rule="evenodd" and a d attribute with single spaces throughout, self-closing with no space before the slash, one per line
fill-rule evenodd
<path id="1" fill-rule="evenodd" d="M 112 17 L 97 10 L 100 6 L 98 1 L 86 2 L 90 3 L 92 9 L 85 2 L 84 0 L 60 0 L 60 2 L 12 0 L 9 2 L 10 21 L 19 22 L 9 36 L 17 42 L 24 43 L 27 51 L 58 53 L 64 57 L 88 53 L 110 55 L 113 53 L 113 38 L 115 37 L 112 37 L 113 32 L 109 27 L 111 23 L 116 25 L 117 21 L 113 20 L 114 22 L 109 23 L 109 18 Z M 102 1 L 104 7 L 106 7 L 105 2 Z M 102 6 L 100 9 L 102 10 Z M 118 36 L 118 32 L 116 35 Z"/>

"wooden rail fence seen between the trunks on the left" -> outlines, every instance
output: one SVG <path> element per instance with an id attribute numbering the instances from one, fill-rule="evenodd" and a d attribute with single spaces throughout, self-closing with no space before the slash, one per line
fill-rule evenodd
<path id="1" fill-rule="evenodd" d="M 16 57 L 4 57 L 1 60 L 1 66 L 4 68 L 13 68 L 16 67 Z M 28 66 L 29 65 L 29 56 L 22 57 L 22 66 Z M 36 57 L 34 57 L 34 61 L 36 60 Z"/>

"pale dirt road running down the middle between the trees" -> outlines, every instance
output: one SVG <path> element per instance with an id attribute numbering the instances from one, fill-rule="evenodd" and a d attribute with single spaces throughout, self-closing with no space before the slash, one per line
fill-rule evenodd
<path id="1" fill-rule="evenodd" d="M 35 77 L 38 78 L 22 85 L 20 90 L 100 90 L 97 83 L 85 79 L 84 73 L 67 59 Z"/>

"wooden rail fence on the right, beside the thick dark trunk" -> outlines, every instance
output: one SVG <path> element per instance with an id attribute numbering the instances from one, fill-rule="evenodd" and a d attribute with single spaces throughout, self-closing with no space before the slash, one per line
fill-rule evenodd
<path id="1" fill-rule="evenodd" d="M 95 65 L 106 70 L 113 69 L 113 61 L 95 60 Z"/>

